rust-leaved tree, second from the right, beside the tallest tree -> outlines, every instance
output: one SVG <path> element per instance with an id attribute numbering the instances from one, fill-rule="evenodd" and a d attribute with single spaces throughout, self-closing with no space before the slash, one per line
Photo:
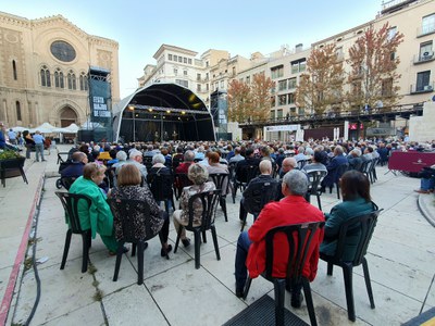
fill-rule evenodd
<path id="1" fill-rule="evenodd" d="M 307 59 L 307 72 L 300 75 L 296 88 L 296 104 L 304 111 L 323 114 L 335 110 L 343 102 L 345 73 L 341 54 L 335 45 L 311 51 Z"/>

